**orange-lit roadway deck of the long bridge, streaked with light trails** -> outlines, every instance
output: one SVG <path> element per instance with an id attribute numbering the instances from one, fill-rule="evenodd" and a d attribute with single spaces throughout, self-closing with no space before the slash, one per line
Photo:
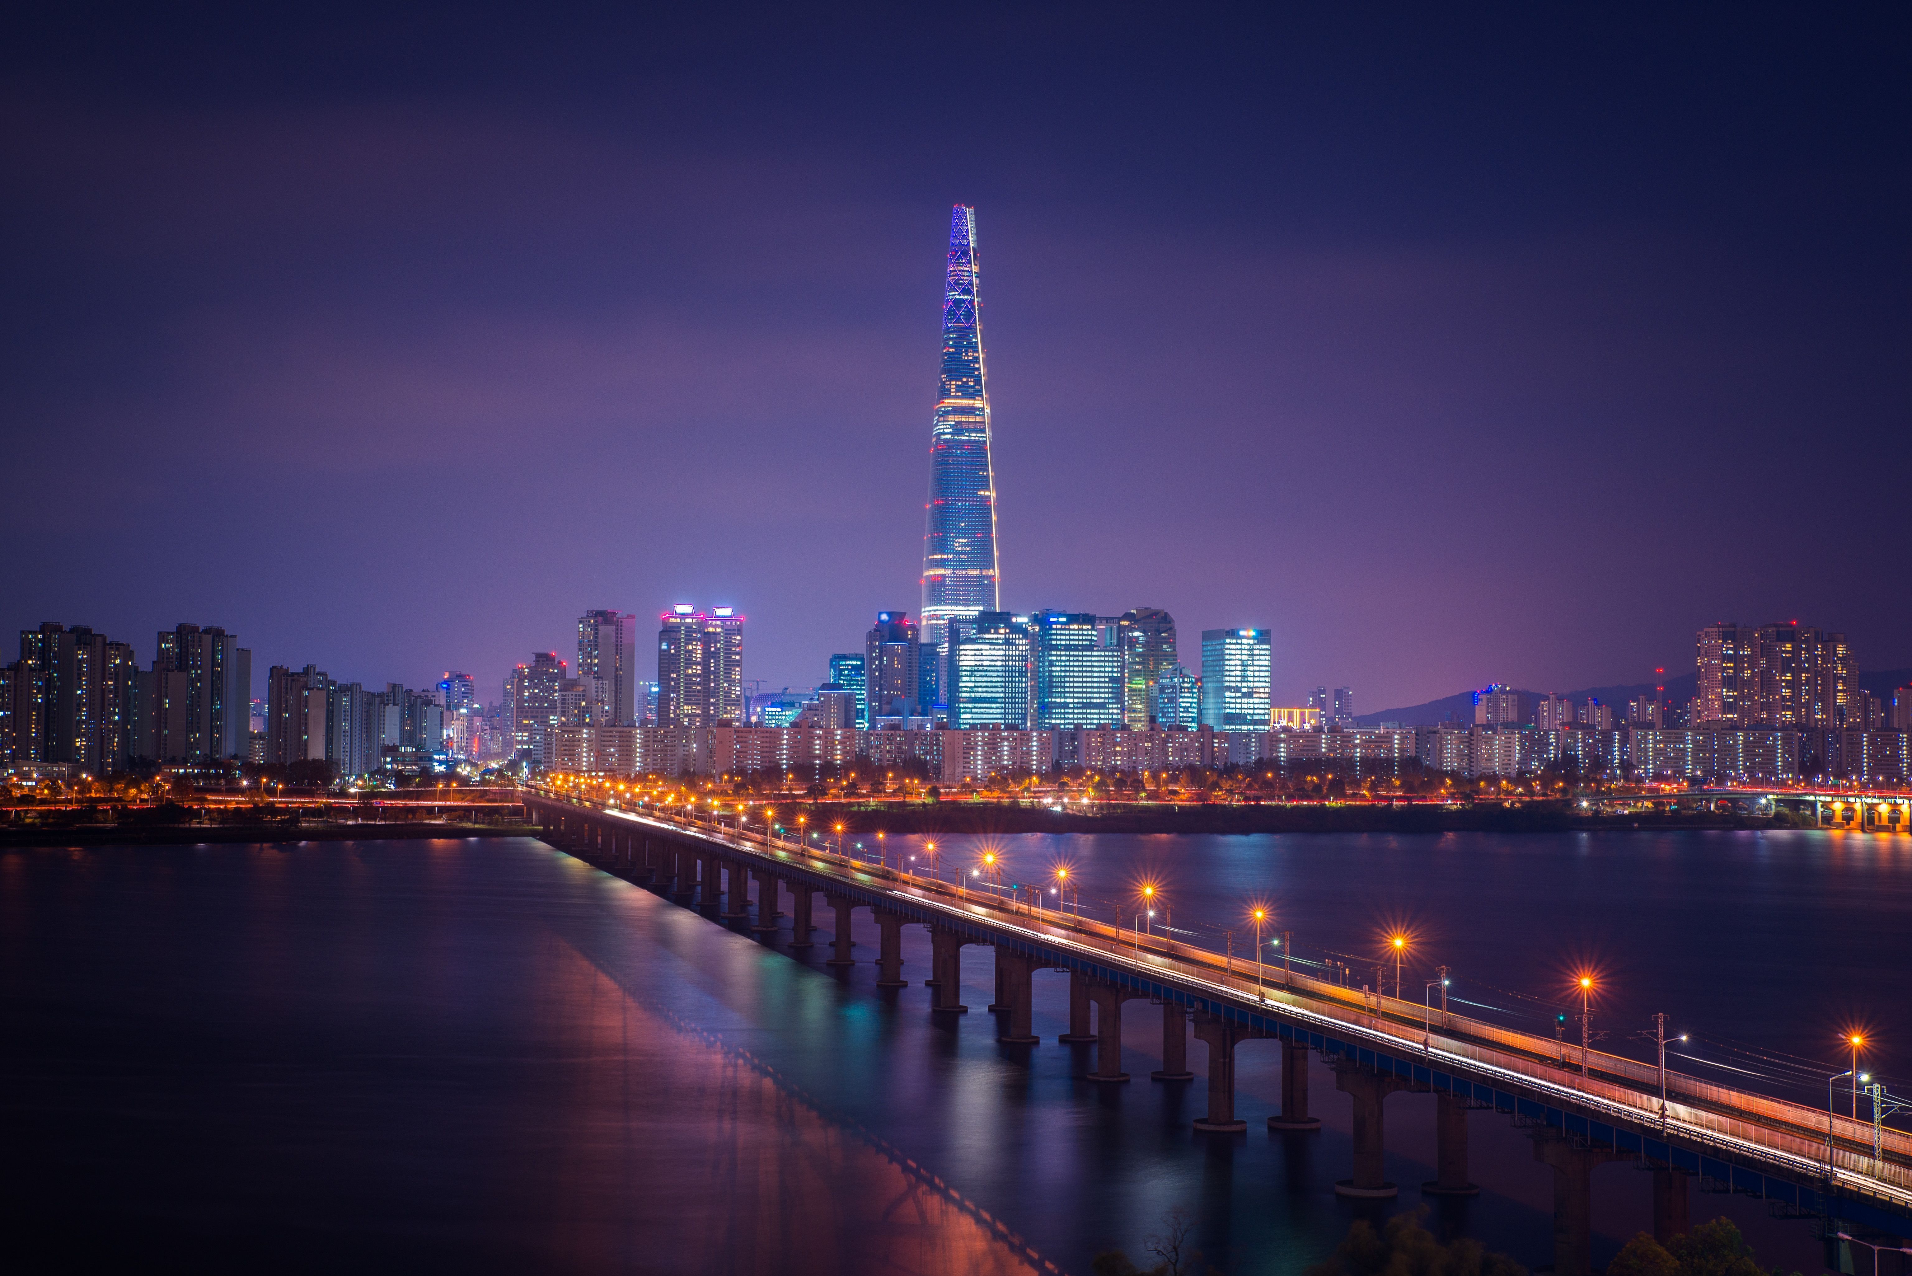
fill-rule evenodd
<path id="1" fill-rule="evenodd" d="M 547 796 L 576 805 L 598 805 L 568 794 L 553 792 Z M 1162 978 L 1197 974 L 1203 981 L 1218 983 L 1245 1001 L 1279 1002 L 1338 1023 L 1380 1033 L 1405 1052 L 1423 1048 L 1423 1039 L 1426 1039 L 1430 1048 L 1518 1073 L 1549 1087 L 1598 1096 L 1640 1121 L 1658 1121 L 1660 1069 L 1652 1064 L 1589 1050 L 1587 1066 L 1593 1075 L 1581 1075 L 1575 1058 L 1577 1050 L 1568 1048 L 1568 1066 L 1562 1066 L 1558 1062 L 1560 1043 L 1549 1037 L 1522 1033 L 1459 1014 L 1440 1016 L 1438 1012 L 1426 1020 L 1428 1027 L 1423 1029 L 1426 1006 L 1417 1006 L 1411 1001 L 1340 987 L 1275 966 L 1266 966 L 1264 976 L 1279 974 L 1279 979 L 1270 981 L 1264 978 L 1264 981 L 1256 983 L 1249 972 L 1241 970 L 1239 962 L 1231 962 L 1220 953 L 1187 943 L 1161 941 L 1149 935 L 1138 939 L 1132 932 L 1119 930 L 1096 918 L 1010 901 L 992 891 L 969 891 L 941 878 L 874 865 L 853 855 L 803 846 L 795 840 L 772 838 L 734 825 L 702 825 L 671 813 L 660 813 L 652 807 L 642 807 L 641 811 L 633 811 L 633 815 L 656 819 L 698 836 L 725 834 L 725 838 L 772 851 L 780 859 L 801 857 L 822 870 L 881 880 L 901 893 L 937 901 L 945 907 L 952 905 L 981 920 L 1000 920 L 1017 928 L 1038 930 L 1055 939 L 1080 943 Z M 1826 1163 L 1828 1121 L 1826 1113 L 1814 1108 L 1719 1087 L 1669 1069 L 1667 1115 L 1688 1131 L 1709 1131 L 1809 1163 Z M 1837 1169 L 1912 1190 L 1912 1165 L 1906 1163 L 1912 1161 L 1912 1134 L 1906 1131 L 1885 1131 L 1885 1159 L 1876 1161 L 1870 1155 L 1872 1125 L 1868 1121 L 1836 1115 L 1832 1129 L 1836 1142 L 1845 1144 L 1834 1150 L 1834 1165 Z M 1862 1148 L 1862 1152 L 1855 1152 L 1855 1148 Z"/>

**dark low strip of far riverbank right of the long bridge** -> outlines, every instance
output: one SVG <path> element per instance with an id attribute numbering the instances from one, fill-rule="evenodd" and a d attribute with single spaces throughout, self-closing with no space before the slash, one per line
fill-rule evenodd
<path id="1" fill-rule="evenodd" d="M 1711 811 L 1585 815 L 1564 802 L 1526 805 L 1115 805 L 1097 811 L 933 802 L 818 803 L 793 807 L 811 828 L 845 832 L 1570 832 L 1575 828 L 1793 828 L 1788 815 L 1755 817 Z"/>

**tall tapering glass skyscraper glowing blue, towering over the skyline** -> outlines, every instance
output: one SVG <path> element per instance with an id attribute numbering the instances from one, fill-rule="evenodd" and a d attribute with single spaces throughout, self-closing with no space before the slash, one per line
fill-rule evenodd
<path id="1" fill-rule="evenodd" d="M 975 209 L 950 218 L 943 289 L 943 385 L 929 427 L 922 641 L 941 645 L 952 618 L 996 610 L 996 474 L 989 463 L 989 385 L 977 297 Z"/>

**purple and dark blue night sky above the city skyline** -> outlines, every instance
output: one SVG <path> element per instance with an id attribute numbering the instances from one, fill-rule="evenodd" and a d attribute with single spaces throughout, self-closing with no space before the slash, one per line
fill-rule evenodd
<path id="1" fill-rule="evenodd" d="M 1361 712 L 1912 666 L 1904 6 L 264 8 L 0 36 L 8 641 L 495 700 L 727 603 L 822 681 L 920 603 L 962 201 L 1010 608 Z"/>

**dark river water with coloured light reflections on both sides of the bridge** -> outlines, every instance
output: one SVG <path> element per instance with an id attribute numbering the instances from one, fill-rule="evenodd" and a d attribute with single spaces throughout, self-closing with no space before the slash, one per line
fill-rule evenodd
<path id="1" fill-rule="evenodd" d="M 977 844 L 945 840 L 946 865 Z M 1421 966 L 1522 1014 L 1551 1014 L 1562 972 L 1595 962 L 1616 1046 L 1663 1008 L 1830 1058 L 1849 1018 L 1904 1018 L 1912 987 L 1908 838 L 990 846 L 1015 878 L 1067 857 L 1086 909 L 1155 874 L 1189 932 L 1268 897 L 1314 958 L 1407 924 Z M 788 953 L 788 920 L 765 943 L 539 842 L 4 851 L 10 1247 L 54 1255 L 44 1270 L 1086 1272 L 1105 1245 L 1140 1257 L 1184 1205 L 1216 1266 L 1298 1272 L 1377 1209 L 1333 1196 L 1348 1104 L 1319 1062 L 1321 1133 L 1264 1129 L 1279 1052 L 1245 1043 L 1249 1134 L 1195 1134 L 1203 1083 L 1147 1081 L 1147 1002 L 1124 1014 L 1136 1081 L 1097 1087 L 1080 1079 L 1092 1050 L 1055 1043 L 1063 976 L 1036 978 L 1044 1045 L 1002 1046 L 985 949 L 964 951 L 973 1012 L 937 1022 L 920 928 L 902 991 L 874 987 L 874 928 L 857 928 L 864 964 L 832 972 L 822 943 Z M 1887 1037 L 1878 1062 L 1904 1048 Z M 1203 1069 L 1199 1043 L 1189 1062 Z M 1424 1094 L 1388 1100 L 1403 1192 L 1380 1213 L 1421 1203 L 1432 1113 Z M 1551 1173 L 1505 1117 L 1476 1113 L 1470 1136 L 1486 1190 L 1430 1226 L 1547 1263 Z M 1597 1263 L 1648 1224 L 1648 1184 L 1595 1175 Z M 1761 1209 L 1694 1198 L 1769 1265 L 1816 1270 L 1811 1224 Z"/>

